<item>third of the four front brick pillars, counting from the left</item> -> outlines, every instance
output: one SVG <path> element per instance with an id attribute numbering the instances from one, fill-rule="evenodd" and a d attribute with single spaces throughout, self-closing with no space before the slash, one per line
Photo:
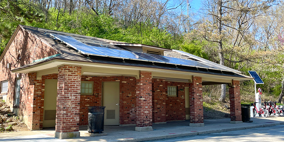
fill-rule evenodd
<path id="1" fill-rule="evenodd" d="M 202 78 L 193 76 L 189 83 L 189 111 L 191 127 L 203 127 Z"/>

